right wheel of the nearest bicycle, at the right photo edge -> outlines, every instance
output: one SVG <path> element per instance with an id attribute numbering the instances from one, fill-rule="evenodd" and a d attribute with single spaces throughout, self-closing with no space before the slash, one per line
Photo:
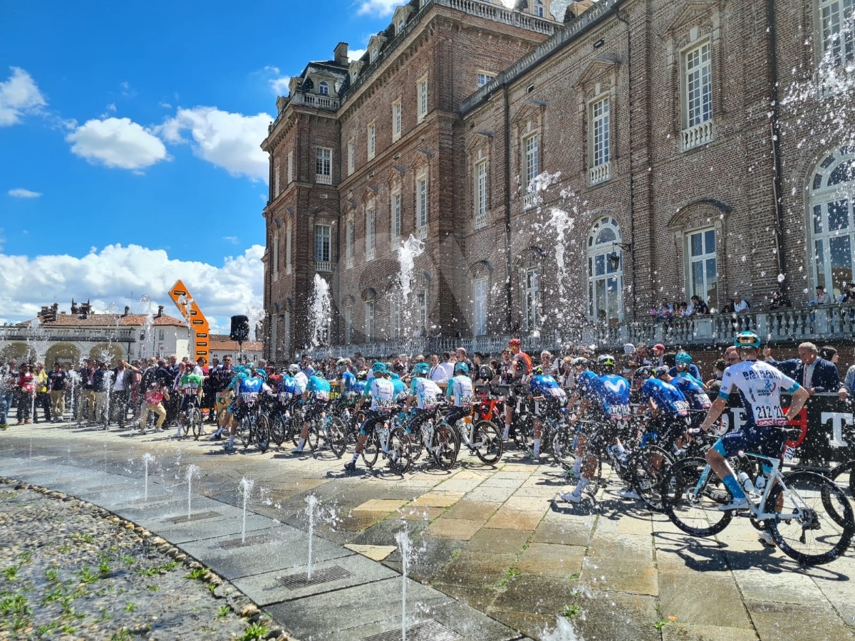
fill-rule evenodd
<path id="1" fill-rule="evenodd" d="M 784 554 L 803 565 L 834 561 L 846 551 L 855 533 L 852 505 L 846 493 L 834 481 L 814 472 L 788 473 L 784 475 L 784 484 L 786 489 L 776 483 L 769 491 L 764 509 L 777 513 L 774 520 L 767 521 L 775 543 Z M 778 510 L 776 505 L 781 499 Z M 832 509 L 828 509 L 829 503 Z M 833 512 L 842 517 L 842 523 L 837 522 Z M 796 516 L 781 518 L 781 515 Z"/>

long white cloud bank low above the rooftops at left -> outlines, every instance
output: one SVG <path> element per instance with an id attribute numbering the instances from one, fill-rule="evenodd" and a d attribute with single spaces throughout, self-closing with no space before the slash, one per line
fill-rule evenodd
<path id="1" fill-rule="evenodd" d="M 0 309 L 4 320 L 23 321 L 54 300 L 60 309 L 68 309 L 74 297 L 90 299 L 98 311 L 115 302 L 119 309 L 129 305 L 136 312 L 139 296 L 146 293 L 155 311 L 156 305 L 163 305 L 168 315 L 178 317 L 168 289 L 180 278 L 212 331 L 227 330 L 229 316 L 262 304 L 263 254 L 261 245 L 252 245 L 239 256 L 227 256 L 219 267 L 170 259 L 166 251 L 133 244 L 92 248 L 82 258 L 0 254 Z M 131 291 L 135 299 L 128 297 Z"/>

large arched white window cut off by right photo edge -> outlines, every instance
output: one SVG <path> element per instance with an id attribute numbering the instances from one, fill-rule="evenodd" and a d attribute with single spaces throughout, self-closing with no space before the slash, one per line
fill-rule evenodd
<path id="1" fill-rule="evenodd" d="M 855 146 L 841 147 L 817 165 L 811 180 L 808 209 L 811 216 L 814 282 L 832 297 L 852 282 L 855 249 Z"/>

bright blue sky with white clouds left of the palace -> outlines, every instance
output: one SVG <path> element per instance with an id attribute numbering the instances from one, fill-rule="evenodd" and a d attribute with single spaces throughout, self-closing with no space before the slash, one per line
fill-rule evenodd
<path id="1" fill-rule="evenodd" d="M 178 278 L 217 324 L 260 306 L 275 97 L 397 4 L 0 3 L 0 323 Z"/>

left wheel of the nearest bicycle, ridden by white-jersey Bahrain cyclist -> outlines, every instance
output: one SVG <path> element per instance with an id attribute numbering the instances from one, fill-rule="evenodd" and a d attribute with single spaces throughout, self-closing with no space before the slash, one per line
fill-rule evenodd
<path id="1" fill-rule="evenodd" d="M 699 486 L 701 475 L 706 478 Z M 717 480 L 715 473 L 707 470 L 702 458 L 687 458 L 672 465 L 663 473 L 659 494 L 662 497 L 663 510 L 668 518 L 683 532 L 696 537 L 711 537 L 721 532 L 733 519 L 732 512 L 718 509 L 718 492 L 730 492 L 723 484 L 711 483 Z"/>

